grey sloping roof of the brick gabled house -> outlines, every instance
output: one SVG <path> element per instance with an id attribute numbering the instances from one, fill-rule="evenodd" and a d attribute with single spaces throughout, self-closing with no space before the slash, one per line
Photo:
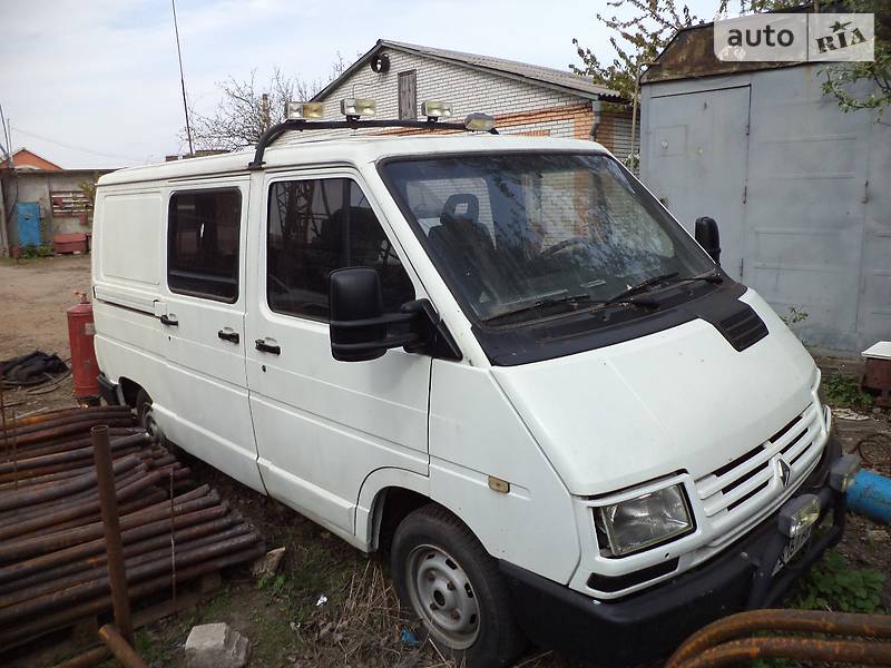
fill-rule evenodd
<path id="1" fill-rule="evenodd" d="M 495 58 L 492 56 L 480 56 L 478 53 L 466 53 L 463 51 L 451 51 L 449 49 L 437 49 L 433 47 L 422 47 L 419 45 L 410 45 L 405 42 L 391 41 L 379 39 L 378 42 L 359 60 L 346 68 L 340 77 L 334 79 L 331 84 L 325 86 L 316 94 L 313 100 L 323 100 L 329 94 L 337 88 L 347 77 L 355 70 L 368 63 L 372 57 L 384 49 L 404 51 L 434 60 L 451 62 L 459 67 L 466 67 L 478 71 L 508 77 L 520 81 L 526 81 L 533 86 L 541 86 L 544 88 L 551 88 L 577 95 L 588 99 L 609 98 L 614 101 L 619 101 L 621 96 L 615 90 L 598 86 L 594 81 L 586 79 L 572 72 L 566 72 L 550 67 L 542 67 L 540 65 L 529 65 L 527 62 L 518 62 L 516 60 L 507 60 L 505 58 Z"/>

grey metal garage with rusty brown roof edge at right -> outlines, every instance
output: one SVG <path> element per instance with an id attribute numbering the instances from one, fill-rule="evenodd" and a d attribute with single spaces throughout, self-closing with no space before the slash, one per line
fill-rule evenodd
<path id="1" fill-rule="evenodd" d="M 806 11 L 803 8 L 802 11 Z M 640 177 L 722 266 L 825 353 L 891 332 L 890 112 L 844 112 L 821 62 L 726 62 L 681 30 L 642 77 Z"/>

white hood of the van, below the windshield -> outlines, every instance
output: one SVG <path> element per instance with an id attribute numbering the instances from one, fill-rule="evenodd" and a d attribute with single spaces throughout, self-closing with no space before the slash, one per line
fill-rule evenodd
<path id="1" fill-rule="evenodd" d="M 687 471 L 698 479 L 766 441 L 812 401 L 813 358 L 752 289 L 768 335 L 737 352 L 695 320 L 492 373 L 577 495 Z"/>

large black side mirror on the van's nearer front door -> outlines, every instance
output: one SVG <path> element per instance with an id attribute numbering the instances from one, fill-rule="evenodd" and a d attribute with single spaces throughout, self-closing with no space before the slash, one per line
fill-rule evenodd
<path id="1" fill-rule="evenodd" d="M 408 324 L 414 313 L 383 313 L 381 277 L 371 267 L 335 269 L 329 276 L 331 354 L 341 362 L 368 362 L 391 347 L 418 341 L 411 332 L 388 335 L 388 325 Z"/>

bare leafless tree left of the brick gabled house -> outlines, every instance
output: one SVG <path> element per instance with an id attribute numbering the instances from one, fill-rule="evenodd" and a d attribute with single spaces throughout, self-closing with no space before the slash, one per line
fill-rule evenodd
<path id="1" fill-rule="evenodd" d="M 265 86 L 257 82 L 256 70 L 246 80 L 229 77 L 218 82 L 222 95 L 213 114 L 205 116 L 189 108 L 195 147 L 198 150 L 237 150 L 254 146 L 267 127 L 284 120 L 288 100 L 311 99 L 344 69 L 346 63 L 337 51 L 325 79 L 305 81 L 275 68 Z"/>

